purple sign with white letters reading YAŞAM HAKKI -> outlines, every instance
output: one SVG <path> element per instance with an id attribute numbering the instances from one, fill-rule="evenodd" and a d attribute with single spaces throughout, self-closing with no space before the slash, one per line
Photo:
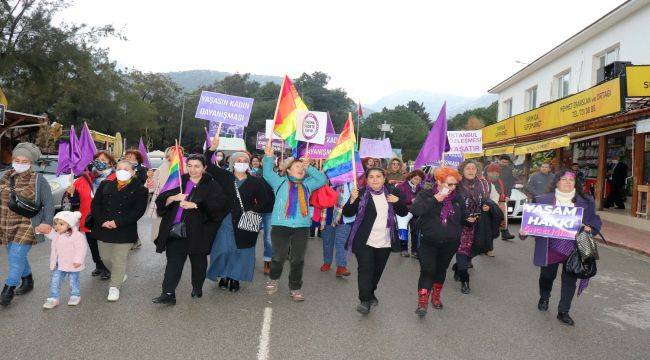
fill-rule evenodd
<path id="1" fill-rule="evenodd" d="M 525 204 L 521 232 L 531 236 L 575 240 L 582 226 L 583 208 Z"/>

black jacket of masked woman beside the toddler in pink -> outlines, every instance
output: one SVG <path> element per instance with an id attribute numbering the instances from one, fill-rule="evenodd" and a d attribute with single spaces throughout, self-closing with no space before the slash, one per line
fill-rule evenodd
<path id="1" fill-rule="evenodd" d="M 118 190 L 116 180 L 104 180 L 90 205 L 94 219 L 92 235 L 107 243 L 126 244 L 138 240 L 138 220 L 147 210 L 148 191 L 137 178 Z M 114 220 L 117 227 L 102 227 Z"/>

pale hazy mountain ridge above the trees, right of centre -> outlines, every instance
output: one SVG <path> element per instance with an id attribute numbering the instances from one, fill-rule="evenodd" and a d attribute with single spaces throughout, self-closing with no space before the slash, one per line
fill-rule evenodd
<path id="1" fill-rule="evenodd" d="M 498 96 L 494 94 L 486 94 L 472 98 L 426 90 L 401 90 L 384 96 L 373 104 L 369 104 L 368 107 L 376 111 L 381 111 L 384 107 L 391 109 L 397 105 L 406 105 L 409 101 L 415 100 L 419 103 L 424 103 L 424 107 L 431 115 L 431 118 L 435 119 L 445 101 L 447 101 L 447 117 L 452 117 L 466 110 L 489 106 L 497 98 Z"/>

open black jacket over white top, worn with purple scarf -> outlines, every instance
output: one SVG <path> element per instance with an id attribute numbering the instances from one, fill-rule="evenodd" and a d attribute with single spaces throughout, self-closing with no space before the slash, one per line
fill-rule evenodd
<path id="1" fill-rule="evenodd" d="M 359 197 L 356 200 L 354 200 L 352 204 L 350 204 L 349 201 L 345 203 L 345 206 L 343 206 L 344 216 L 352 217 L 357 214 L 357 212 L 359 211 L 359 203 L 361 202 L 361 198 L 363 198 L 363 194 L 365 194 L 365 192 L 366 192 L 365 188 L 359 190 Z M 399 198 L 399 201 L 393 204 L 393 211 L 395 212 L 395 215 L 406 216 L 406 214 L 408 214 L 408 208 L 406 207 L 406 203 L 404 202 L 404 195 L 402 195 L 402 192 L 397 190 L 397 188 L 395 188 L 392 185 L 388 187 L 388 192 L 390 192 L 391 194 Z M 352 242 L 352 244 L 354 244 L 352 247 L 352 251 L 356 253 L 357 249 L 365 245 L 366 242 L 368 241 L 368 237 L 370 236 L 370 231 L 372 230 L 372 226 L 375 224 L 376 218 L 377 218 L 377 209 L 375 208 L 375 202 L 372 201 L 372 198 L 370 198 L 368 199 L 368 203 L 366 204 L 366 212 L 364 214 L 363 219 L 358 219 L 358 218 L 355 219 L 355 222 L 361 221 L 361 224 L 359 225 L 359 229 L 357 230 L 354 239 L 348 239 L 348 242 L 346 243 L 346 248 L 348 248 L 350 242 Z M 397 220 L 395 221 L 395 223 L 397 224 Z M 393 251 L 401 250 L 399 238 L 394 233 L 391 234 L 391 248 Z"/>

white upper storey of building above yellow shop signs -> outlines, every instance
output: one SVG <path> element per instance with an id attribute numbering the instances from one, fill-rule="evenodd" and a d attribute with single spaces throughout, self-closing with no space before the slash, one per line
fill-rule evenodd
<path id="1" fill-rule="evenodd" d="M 498 120 L 588 89 L 613 61 L 650 64 L 650 0 L 630 0 L 489 90 Z"/>

